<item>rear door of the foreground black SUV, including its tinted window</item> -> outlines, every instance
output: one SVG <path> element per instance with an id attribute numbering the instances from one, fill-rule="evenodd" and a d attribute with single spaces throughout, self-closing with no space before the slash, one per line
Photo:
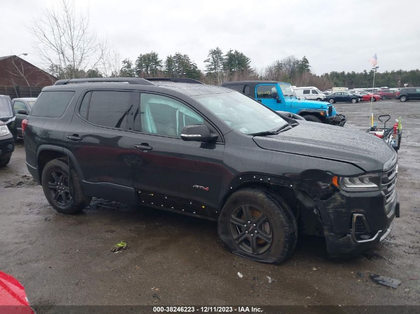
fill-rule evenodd
<path id="1" fill-rule="evenodd" d="M 64 136 L 83 173 L 88 195 L 130 202 L 133 92 L 91 90 L 84 93 Z M 131 194 L 129 189 L 132 188 Z"/>

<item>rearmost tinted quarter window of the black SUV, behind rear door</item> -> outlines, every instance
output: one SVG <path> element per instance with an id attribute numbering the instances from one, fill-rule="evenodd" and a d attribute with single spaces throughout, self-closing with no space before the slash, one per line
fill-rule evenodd
<path id="1" fill-rule="evenodd" d="M 75 92 L 42 92 L 36 100 L 31 116 L 58 118 L 63 116 Z"/>

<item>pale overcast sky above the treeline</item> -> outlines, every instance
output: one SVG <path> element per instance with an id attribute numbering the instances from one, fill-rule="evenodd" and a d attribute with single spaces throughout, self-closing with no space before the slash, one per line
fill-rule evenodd
<path id="1" fill-rule="evenodd" d="M 26 26 L 53 0 L 0 0 L 0 56 L 28 53 L 42 65 Z M 161 59 L 188 54 L 204 69 L 208 50 L 237 49 L 260 70 L 294 55 L 308 58 L 316 74 L 420 67 L 418 0 L 76 0 L 90 12 L 90 27 L 125 58 L 152 50 Z M 401 3 L 401 4 L 400 4 Z M 26 26 L 25 26 L 26 25 Z"/>

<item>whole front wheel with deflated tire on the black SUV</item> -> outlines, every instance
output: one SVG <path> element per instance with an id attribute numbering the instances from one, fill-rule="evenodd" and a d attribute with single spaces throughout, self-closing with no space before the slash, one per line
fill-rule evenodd
<path id="1" fill-rule="evenodd" d="M 234 192 L 223 206 L 217 229 L 233 253 L 274 264 L 290 257 L 298 236 L 296 219 L 286 202 L 259 188 Z"/>

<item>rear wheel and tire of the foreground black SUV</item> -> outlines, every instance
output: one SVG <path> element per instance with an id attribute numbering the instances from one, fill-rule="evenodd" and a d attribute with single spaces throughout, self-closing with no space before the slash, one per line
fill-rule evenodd
<path id="1" fill-rule="evenodd" d="M 43 171 L 41 184 L 45 197 L 51 206 L 62 214 L 81 212 L 92 200 L 85 196 L 76 170 L 71 170 L 69 186 L 69 166 L 62 159 L 49 161 Z"/>

